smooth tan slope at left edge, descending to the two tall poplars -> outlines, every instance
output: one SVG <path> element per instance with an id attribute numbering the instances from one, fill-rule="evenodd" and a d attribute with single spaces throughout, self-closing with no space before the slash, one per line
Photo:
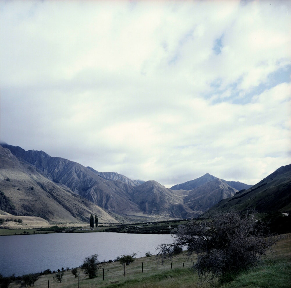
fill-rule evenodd
<path id="1" fill-rule="evenodd" d="M 54 223 L 82 223 L 88 222 L 91 213 L 97 213 L 100 222 L 117 222 L 92 202 L 59 187 L 33 166 L 19 162 L 2 146 L 0 189 L 13 205 L 10 213 L 14 215 L 39 216 Z"/>

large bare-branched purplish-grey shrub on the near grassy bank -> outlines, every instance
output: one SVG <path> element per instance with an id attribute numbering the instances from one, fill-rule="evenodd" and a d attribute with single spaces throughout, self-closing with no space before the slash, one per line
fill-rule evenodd
<path id="1" fill-rule="evenodd" d="M 257 225 L 253 214 L 237 211 L 217 212 L 205 221 L 191 220 L 178 227 L 171 244 L 160 246 L 162 259 L 171 258 L 175 247 L 186 247 L 188 257 L 197 253 L 194 268 L 200 279 L 222 279 L 257 264 L 274 238 L 264 238 L 264 228 Z"/>

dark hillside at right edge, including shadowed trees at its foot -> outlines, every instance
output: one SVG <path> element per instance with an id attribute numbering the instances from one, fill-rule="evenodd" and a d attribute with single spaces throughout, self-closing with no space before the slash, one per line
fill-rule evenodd
<path id="1" fill-rule="evenodd" d="M 199 218 L 207 218 L 216 211 L 254 210 L 267 223 L 271 232 L 282 234 L 291 232 L 291 164 L 278 168 L 248 190 L 241 190 L 233 197 L 212 206 Z M 285 214 L 283 214 L 285 213 Z M 287 216 L 289 213 L 289 216 Z"/>

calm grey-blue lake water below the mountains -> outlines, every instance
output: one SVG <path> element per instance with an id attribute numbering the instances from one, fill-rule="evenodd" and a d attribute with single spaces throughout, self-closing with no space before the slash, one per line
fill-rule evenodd
<path id="1" fill-rule="evenodd" d="M 162 243 L 171 243 L 169 234 L 123 233 L 55 233 L 0 236 L 0 274 L 24 275 L 62 267 L 79 267 L 86 256 L 98 254 L 98 260 L 114 260 L 117 256 L 145 252 L 157 254 Z"/>

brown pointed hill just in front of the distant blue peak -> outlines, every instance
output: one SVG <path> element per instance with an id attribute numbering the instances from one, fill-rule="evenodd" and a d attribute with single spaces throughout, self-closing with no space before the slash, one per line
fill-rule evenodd
<path id="1" fill-rule="evenodd" d="M 225 181 L 216 178 L 189 191 L 184 203 L 192 210 L 202 213 L 219 201 L 233 196 L 236 192 L 237 190 L 230 187 Z"/>

